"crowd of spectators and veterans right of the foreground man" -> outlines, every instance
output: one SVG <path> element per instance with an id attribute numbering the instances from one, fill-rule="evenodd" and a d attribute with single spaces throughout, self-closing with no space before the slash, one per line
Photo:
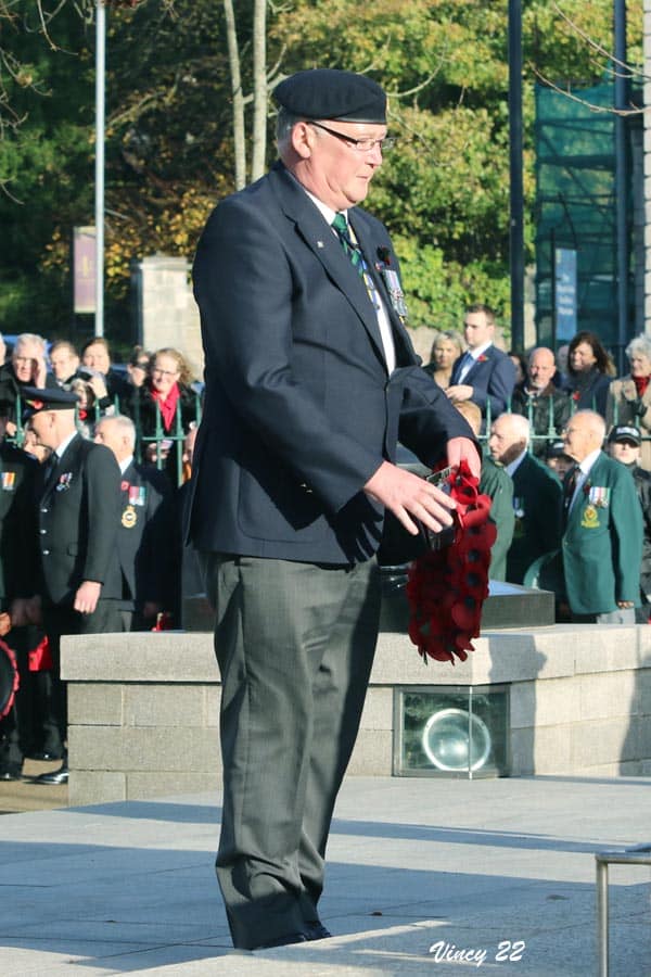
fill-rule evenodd
<path id="1" fill-rule="evenodd" d="M 651 340 L 631 340 L 629 371 L 616 378 L 592 332 L 526 355 L 497 350 L 496 334 L 495 313 L 470 306 L 465 344 L 436 333 L 425 367 L 467 416 L 476 410 L 468 419 L 484 443 L 482 491 L 498 530 L 492 579 L 554 591 L 559 620 L 649 621 Z"/>

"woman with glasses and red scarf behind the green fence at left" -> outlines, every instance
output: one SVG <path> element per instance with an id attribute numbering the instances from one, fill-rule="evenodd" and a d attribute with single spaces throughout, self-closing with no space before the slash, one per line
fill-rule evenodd
<path id="1" fill-rule="evenodd" d="M 190 370 L 183 355 L 169 346 L 157 350 L 150 361 L 149 376 L 132 388 L 129 414 L 139 432 L 143 454 L 153 439 L 171 441 L 165 468 L 173 481 L 181 470 L 183 435 L 196 420 L 196 398 L 190 388 Z M 180 440 L 178 440 L 180 436 Z"/>

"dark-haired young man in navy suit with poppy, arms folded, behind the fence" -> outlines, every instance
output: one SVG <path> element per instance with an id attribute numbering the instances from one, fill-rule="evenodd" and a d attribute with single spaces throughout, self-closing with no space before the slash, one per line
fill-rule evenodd
<path id="1" fill-rule="evenodd" d="M 475 303 L 465 309 L 463 335 L 468 350 L 455 361 L 446 394 L 452 404 L 472 401 L 484 417 L 489 414 L 495 420 L 509 406 L 515 367 L 493 344 L 495 313 L 488 305 Z"/>

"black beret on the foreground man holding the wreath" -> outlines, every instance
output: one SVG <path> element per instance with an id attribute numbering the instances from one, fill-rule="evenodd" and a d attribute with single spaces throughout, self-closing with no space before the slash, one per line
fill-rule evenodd
<path id="1" fill-rule="evenodd" d="M 376 81 L 354 72 L 314 68 L 297 72 L 277 85 L 279 105 L 302 118 L 385 125 L 386 96 Z"/>

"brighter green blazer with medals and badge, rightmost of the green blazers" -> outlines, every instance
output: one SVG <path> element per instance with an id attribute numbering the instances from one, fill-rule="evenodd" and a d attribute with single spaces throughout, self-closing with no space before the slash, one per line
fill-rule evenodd
<path id="1" fill-rule="evenodd" d="M 567 517 L 561 544 L 565 592 L 576 614 L 639 606 L 642 510 L 627 468 L 601 453 Z"/>

